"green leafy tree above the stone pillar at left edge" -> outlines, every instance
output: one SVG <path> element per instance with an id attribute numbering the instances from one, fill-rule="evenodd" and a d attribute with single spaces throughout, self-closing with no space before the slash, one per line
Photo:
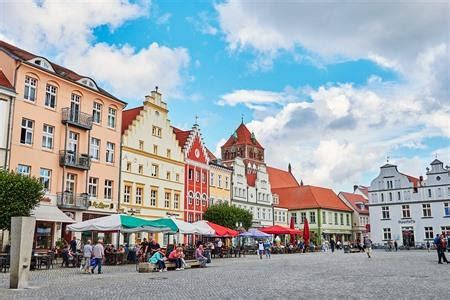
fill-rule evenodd
<path id="1" fill-rule="evenodd" d="M 0 229 L 11 229 L 11 217 L 29 216 L 44 196 L 44 187 L 35 177 L 0 171 Z"/>

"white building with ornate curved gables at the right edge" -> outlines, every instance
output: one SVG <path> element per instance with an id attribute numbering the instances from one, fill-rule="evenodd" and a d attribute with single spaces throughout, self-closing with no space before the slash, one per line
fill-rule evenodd
<path id="1" fill-rule="evenodd" d="M 427 178 L 402 174 L 386 164 L 369 187 L 370 237 L 374 244 L 396 240 L 401 246 L 423 246 L 437 233 L 450 234 L 448 167 L 435 159 Z"/>

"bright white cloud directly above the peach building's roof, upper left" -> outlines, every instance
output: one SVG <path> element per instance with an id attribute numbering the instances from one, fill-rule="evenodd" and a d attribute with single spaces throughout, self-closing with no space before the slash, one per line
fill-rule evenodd
<path id="1" fill-rule="evenodd" d="M 186 49 L 151 43 L 136 50 L 128 44 L 98 43 L 93 35 L 102 25 L 114 31 L 148 17 L 149 8 L 146 0 L 6 2 L 0 11 L 0 38 L 92 77 L 124 100 L 140 100 L 155 85 L 176 95 L 189 63 Z M 159 21 L 169 18 L 166 14 Z"/>

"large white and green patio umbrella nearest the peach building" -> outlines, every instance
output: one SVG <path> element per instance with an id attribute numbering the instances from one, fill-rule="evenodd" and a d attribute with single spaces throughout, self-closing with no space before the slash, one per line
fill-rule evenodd
<path id="1" fill-rule="evenodd" d="M 171 229 L 154 223 L 150 220 L 145 220 L 133 216 L 114 214 L 106 217 L 91 219 L 83 222 L 78 222 L 67 226 L 70 231 L 122 231 L 122 232 L 167 232 Z"/>

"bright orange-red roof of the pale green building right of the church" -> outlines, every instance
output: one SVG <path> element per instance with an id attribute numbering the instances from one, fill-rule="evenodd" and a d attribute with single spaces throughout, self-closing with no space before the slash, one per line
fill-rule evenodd
<path id="1" fill-rule="evenodd" d="M 326 208 L 352 211 L 333 190 L 312 185 L 272 189 L 278 194 L 279 207 L 288 209 Z"/>

